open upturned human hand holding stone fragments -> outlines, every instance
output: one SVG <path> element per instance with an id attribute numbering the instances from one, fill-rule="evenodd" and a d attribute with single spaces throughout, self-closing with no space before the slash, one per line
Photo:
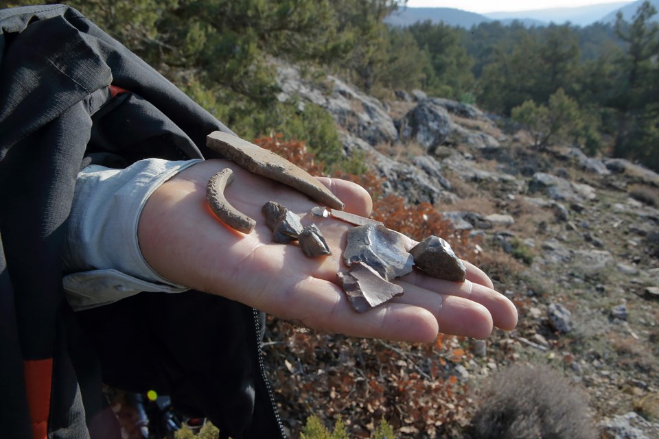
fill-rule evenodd
<path id="1" fill-rule="evenodd" d="M 244 235 L 224 226 L 206 203 L 208 179 L 231 167 L 235 182 L 224 195 L 236 209 L 257 220 Z M 345 180 L 319 178 L 345 202 L 345 211 L 368 216 L 370 195 Z M 492 281 L 465 262 L 467 280 L 454 283 L 418 270 L 395 283 L 404 295 L 365 313 L 351 308 L 336 273 L 343 267 L 345 232 L 350 224 L 333 218 L 303 218 L 316 223 L 332 250 L 328 257 L 308 258 L 292 245 L 275 244 L 262 206 L 283 204 L 299 215 L 316 204 L 273 180 L 229 161 L 208 160 L 167 180 L 141 213 L 138 240 L 151 267 L 170 281 L 218 294 L 319 331 L 384 340 L 429 342 L 437 333 L 485 338 L 493 325 L 511 330 L 517 311 Z M 415 241 L 409 239 L 408 248 Z"/>

